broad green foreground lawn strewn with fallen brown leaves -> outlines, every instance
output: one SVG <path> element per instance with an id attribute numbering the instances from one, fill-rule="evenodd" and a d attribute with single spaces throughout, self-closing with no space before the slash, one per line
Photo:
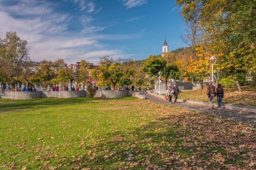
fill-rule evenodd
<path id="1" fill-rule="evenodd" d="M 133 97 L 0 99 L 0 169 L 255 169 L 256 129 Z"/>

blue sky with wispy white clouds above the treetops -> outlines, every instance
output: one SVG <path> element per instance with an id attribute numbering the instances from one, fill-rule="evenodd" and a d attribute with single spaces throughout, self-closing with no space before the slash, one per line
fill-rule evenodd
<path id="1" fill-rule="evenodd" d="M 142 60 L 184 47 L 175 0 L 0 0 L 0 38 L 8 31 L 31 47 L 32 61 L 67 64 L 100 57 Z"/>

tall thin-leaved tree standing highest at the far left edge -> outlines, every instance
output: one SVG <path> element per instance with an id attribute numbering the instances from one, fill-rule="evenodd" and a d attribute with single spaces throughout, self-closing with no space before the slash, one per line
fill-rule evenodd
<path id="1" fill-rule="evenodd" d="M 6 38 L 0 43 L 0 58 L 7 64 L 7 71 L 11 78 L 19 75 L 22 62 L 29 61 L 30 47 L 26 40 L 21 40 L 16 32 L 6 33 Z"/>

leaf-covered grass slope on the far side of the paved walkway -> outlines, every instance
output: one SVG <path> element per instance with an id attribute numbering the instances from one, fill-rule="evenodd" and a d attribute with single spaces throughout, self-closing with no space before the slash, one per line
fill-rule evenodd
<path id="1" fill-rule="evenodd" d="M 238 91 L 237 87 L 233 88 L 223 88 L 224 98 L 223 103 L 226 104 L 238 104 L 245 106 L 256 106 L 256 88 L 251 86 L 242 86 L 242 92 Z M 182 90 L 181 90 L 182 91 Z M 191 92 L 181 92 L 179 98 L 195 101 L 208 101 L 208 96 L 206 95 L 207 88 L 195 90 Z M 215 97 L 217 101 L 217 97 Z"/>

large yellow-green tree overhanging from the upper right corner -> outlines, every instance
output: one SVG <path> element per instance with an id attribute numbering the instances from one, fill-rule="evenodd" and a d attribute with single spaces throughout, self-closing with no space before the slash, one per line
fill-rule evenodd
<path id="1" fill-rule="evenodd" d="M 207 51 L 218 55 L 221 69 L 233 75 L 241 91 L 237 74 L 256 72 L 256 3 L 235 0 L 176 0 L 182 5 L 183 17 L 193 20 L 199 13 L 204 39 L 210 42 Z M 191 19 L 192 18 L 192 19 Z M 204 45 L 206 46 L 206 45 Z M 216 56 L 215 56 L 216 57 Z"/>

